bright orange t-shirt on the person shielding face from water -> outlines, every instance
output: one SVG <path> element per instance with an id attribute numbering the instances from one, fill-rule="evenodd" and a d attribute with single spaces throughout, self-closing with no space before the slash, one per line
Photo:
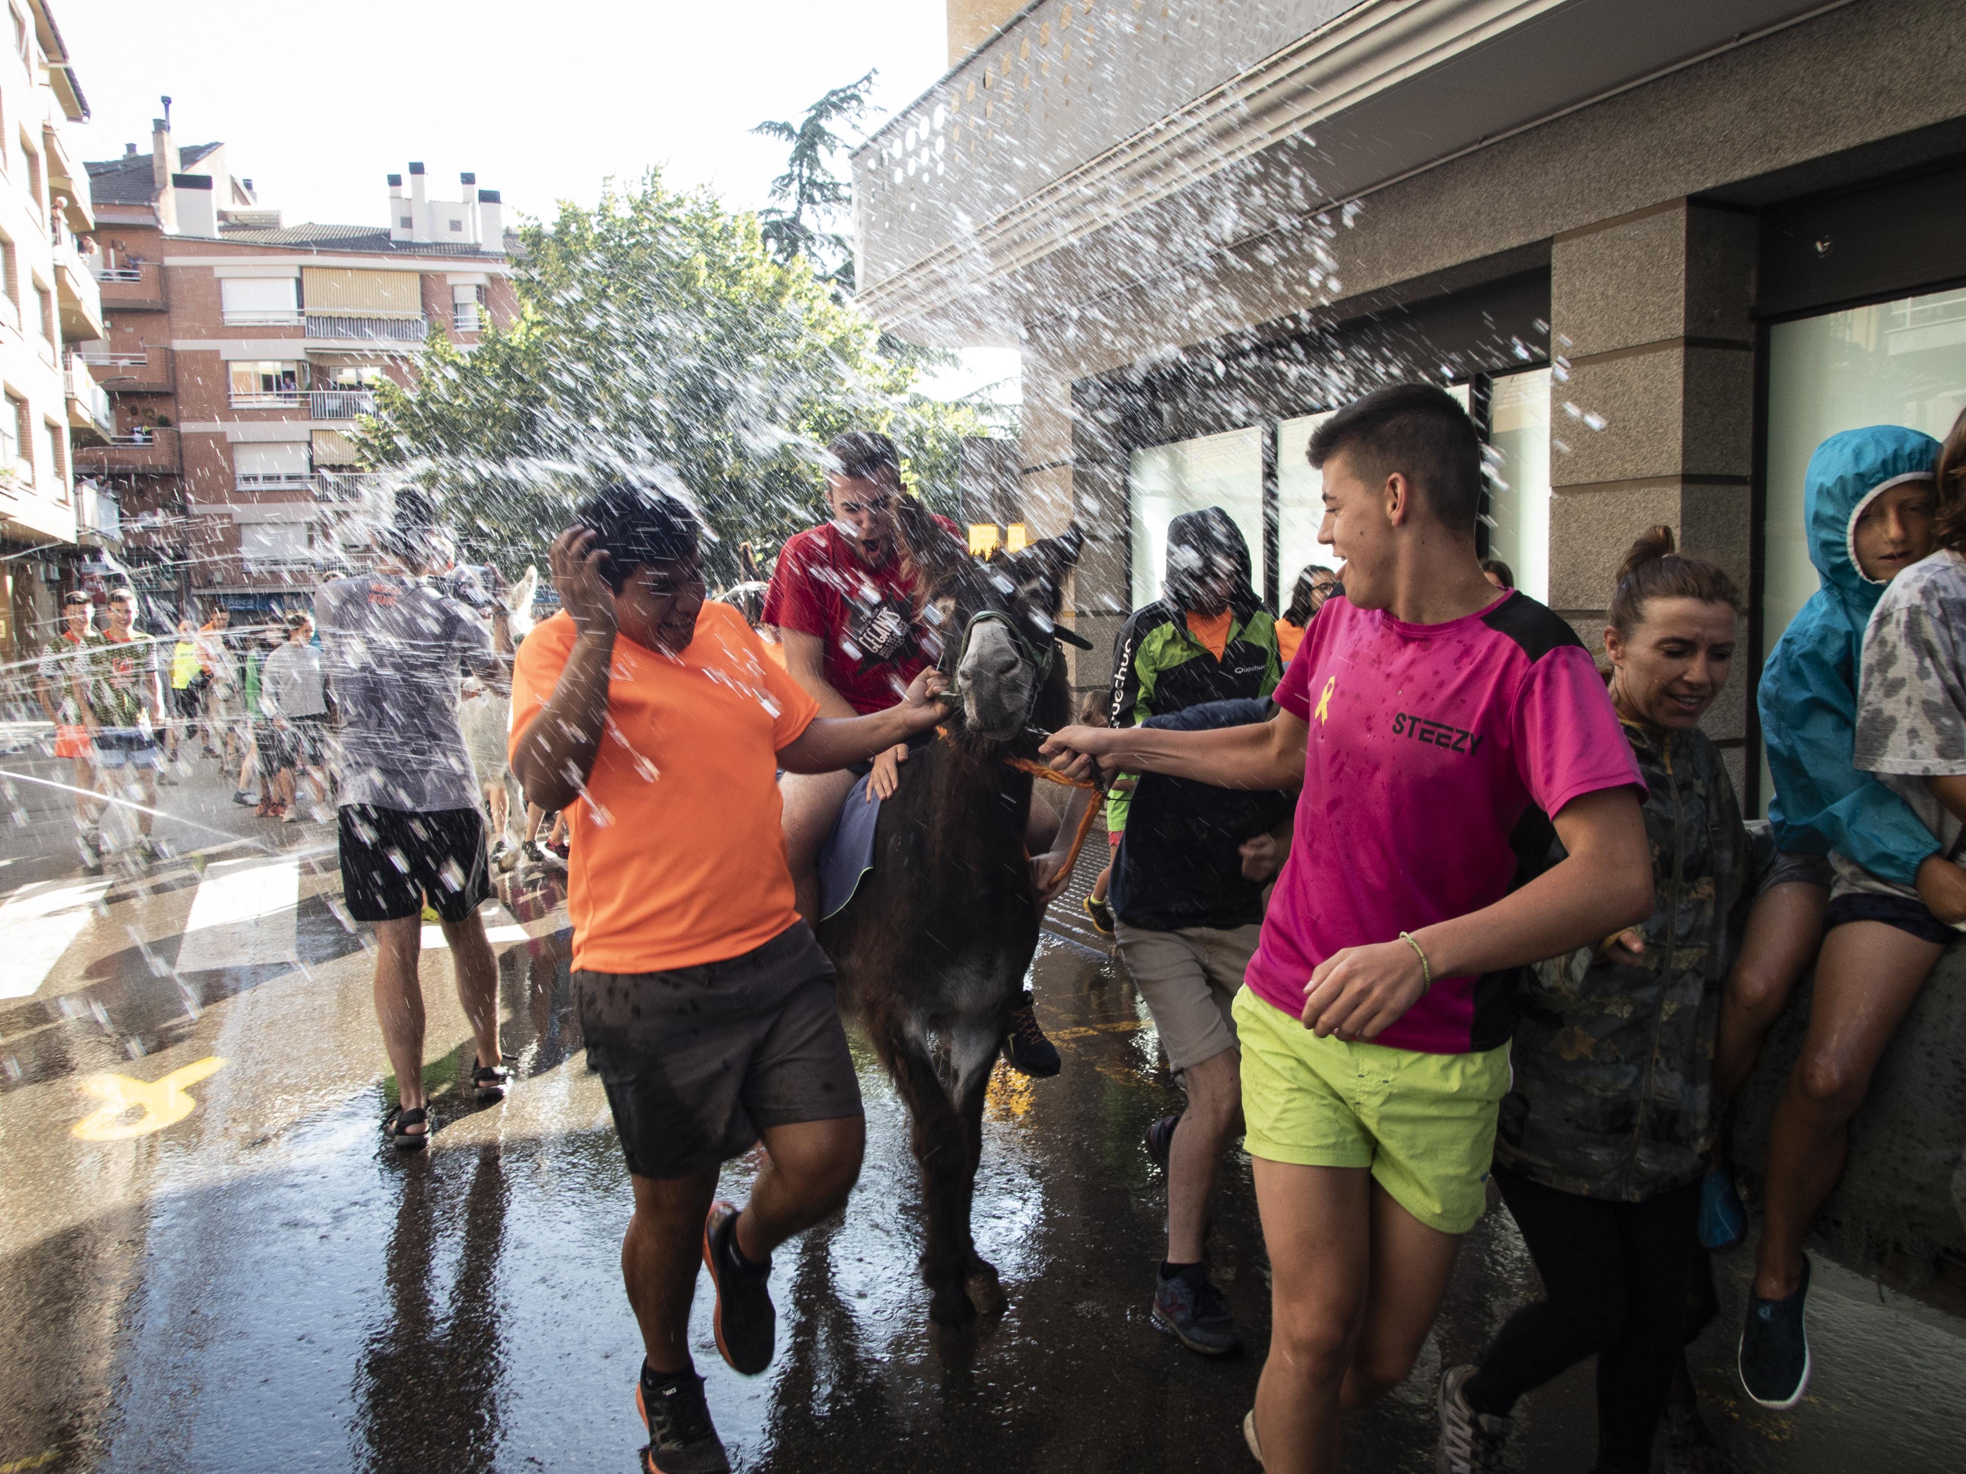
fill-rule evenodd
<path id="1" fill-rule="evenodd" d="M 552 615 L 511 672 L 511 741 L 574 649 Z M 798 920 L 779 829 L 777 753 L 820 711 L 737 609 L 706 603 L 672 656 L 615 637 L 607 731 L 568 810 L 574 967 L 661 973 L 741 957 Z M 596 816 L 600 806 L 602 814 Z"/>

